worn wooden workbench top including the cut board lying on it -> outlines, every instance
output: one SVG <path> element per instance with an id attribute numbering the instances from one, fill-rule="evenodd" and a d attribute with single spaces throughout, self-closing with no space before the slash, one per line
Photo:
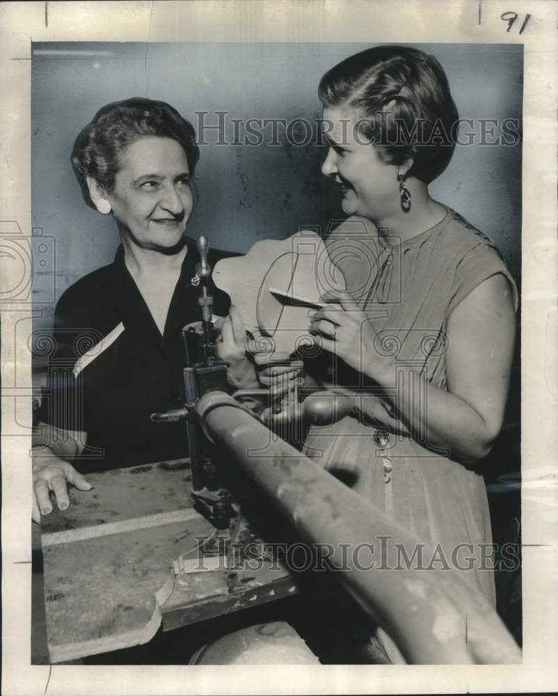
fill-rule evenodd
<path id="1" fill-rule="evenodd" d="M 190 497 L 188 468 L 148 464 L 88 475 L 92 491 L 42 523 L 47 644 L 52 663 L 148 642 L 163 630 L 202 622 L 294 594 L 294 580 L 260 548 L 253 523 L 237 523 L 242 553 L 202 562 L 199 539 L 214 532 Z M 186 561 L 173 567 L 181 557 Z M 213 565 L 212 565 L 213 563 Z"/>

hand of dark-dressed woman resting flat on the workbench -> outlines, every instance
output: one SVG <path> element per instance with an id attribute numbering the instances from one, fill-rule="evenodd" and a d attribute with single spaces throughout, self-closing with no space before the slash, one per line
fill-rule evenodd
<path id="1" fill-rule="evenodd" d="M 59 509 L 65 510 L 70 507 L 68 484 L 72 484 L 79 491 L 90 491 L 93 488 L 92 484 L 71 464 L 59 459 L 54 453 L 51 456 L 45 454 L 33 456 L 33 522 L 40 523 L 41 514 L 51 514 L 51 491 L 54 493 Z"/>

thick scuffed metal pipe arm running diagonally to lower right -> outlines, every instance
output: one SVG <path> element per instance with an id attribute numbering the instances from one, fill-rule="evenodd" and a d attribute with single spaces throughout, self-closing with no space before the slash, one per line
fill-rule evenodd
<path id="1" fill-rule="evenodd" d="M 407 663 L 520 662 L 520 649 L 500 617 L 458 572 L 393 569 L 395 544 L 410 550 L 420 543 L 398 523 L 315 461 L 274 440 L 229 395 L 206 394 L 196 404 L 196 416 L 214 443 L 234 456 L 291 521 L 302 541 L 333 547 L 330 567 Z M 375 565 L 363 569 L 350 551 L 370 550 L 371 544 L 369 558 Z"/>

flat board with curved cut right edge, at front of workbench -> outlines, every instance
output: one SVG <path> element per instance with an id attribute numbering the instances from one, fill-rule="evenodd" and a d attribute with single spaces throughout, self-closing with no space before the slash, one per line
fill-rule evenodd
<path id="1" fill-rule="evenodd" d="M 198 518 L 47 546 L 51 661 L 148 642 L 161 624 L 161 605 L 173 590 L 173 557 L 188 551 L 196 536 L 208 533 L 209 523 Z M 226 590 L 223 578 L 221 592 Z"/>

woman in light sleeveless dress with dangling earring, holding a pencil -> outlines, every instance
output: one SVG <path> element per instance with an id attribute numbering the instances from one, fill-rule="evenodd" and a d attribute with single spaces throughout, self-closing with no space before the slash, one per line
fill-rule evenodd
<path id="1" fill-rule="evenodd" d="M 322 172 L 350 216 L 328 242 L 349 292 L 311 326 L 337 357 L 326 379 L 358 388 L 353 413 L 312 429 L 307 451 L 436 549 L 434 567 L 463 571 L 494 601 L 477 463 L 502 427 L 517 293 L 491 240 L 429 193 L 454 151 L 447 79 L 432 56 L 383 46 L 335 65 L 319 96 Z M 343 248 L 359 230 L 356 261 Z"/>

